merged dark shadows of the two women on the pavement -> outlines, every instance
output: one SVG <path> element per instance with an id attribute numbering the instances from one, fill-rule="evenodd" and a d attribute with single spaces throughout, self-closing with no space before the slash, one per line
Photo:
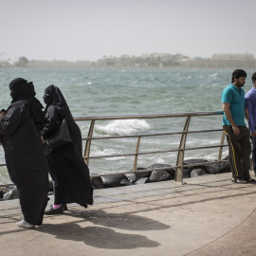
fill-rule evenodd
<path id="1" fill-rule="evenodd" d="M 90 247 L 129 249 L 160 246 L 159 243 L 138 234 L 139 230 L 171 228 L 150 218 L 133 214 L 109 214 L 103 210 L 89 212 L 73 210 L 70 214 L 64 215 L 72 218 L 73 221 L 64 224 L 45 224 L 36 231 L 54 235 L 57 239 L 83 242 Z M 118 229 L 121 231 L 119 232 Z M 123 230 L 128 231 L 123 232 Z M 137 230 L 136 234 L 132 232 L 135 230 Z"/>

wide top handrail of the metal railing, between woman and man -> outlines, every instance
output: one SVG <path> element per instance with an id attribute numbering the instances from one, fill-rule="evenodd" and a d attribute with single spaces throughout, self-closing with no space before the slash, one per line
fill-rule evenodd
<path id="1" fill-rule="evenodd" d="M 152 115 L 123 115 L 123 116 L 97 116 L 97 117 L 75 117 L 77 121 L 81 120 L 110 120 L 110 119 L 163 119 L 163 118 L 182 118 L 182 117 L 201 117 L 223 115 L 223 111 L 201 111 L 184 112 L 173 114 L 152 114 Z"/>

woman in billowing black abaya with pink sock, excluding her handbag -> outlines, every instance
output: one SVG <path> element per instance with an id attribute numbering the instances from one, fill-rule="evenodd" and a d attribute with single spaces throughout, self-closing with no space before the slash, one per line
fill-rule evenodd
<path id="1" fill-rule="evenodd" d="M 46 126 L 42 138 L 50 137 L 58 130 L 59 123 L 67 119 L 72 143 L 47 155 L 50 175 L 54 183 L 54 205 L 45 214 L 61 214 L 65 204 L 78 203 L 84 208 L 93 204 L 93 189 L 89 169 L 82 157 L 82 135 L 61 90 L 49 85 L 45 90 Z"/>

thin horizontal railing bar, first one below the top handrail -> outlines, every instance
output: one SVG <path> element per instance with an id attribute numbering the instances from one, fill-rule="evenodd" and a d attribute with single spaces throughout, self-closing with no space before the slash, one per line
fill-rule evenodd
<path id="1" fill-rule="evenodd" d="M 201 131 L 190 131 L 187 134 L 195 133 L 208 133 L 208 132 L 222 132 L 223 129 L 214 129 L 214 130 L 201 130 Z M 83 137 L 82 140 L 89 139 L 108 139 L 108 138 L 126 138 L 126 137 L 153 137 L 153 136 L 169 136 L 169 135 L 182 135 L 186 132 L 175 132 L 175 133 L 163 133 L 163 134 L 147 134 L 147 135 L 135 135 L 135 136 L 108 136 L 108 137 Z"/>

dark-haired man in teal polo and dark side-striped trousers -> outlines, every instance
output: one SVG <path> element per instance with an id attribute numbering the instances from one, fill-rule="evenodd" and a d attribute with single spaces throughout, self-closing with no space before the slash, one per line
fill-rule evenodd
<path id="1" fill-rule="evenodd" d="M 232 73 L 231 84 L 222 92 L 223 129 L 229 144 L 229 164 L 232 171 L 232 181 L 247 183 L 255 181 L 249 175 L 249 156 L 251 144 L 249 131 L 245 122 L 245 91 L 247 73 L 236 69 Z"/>

